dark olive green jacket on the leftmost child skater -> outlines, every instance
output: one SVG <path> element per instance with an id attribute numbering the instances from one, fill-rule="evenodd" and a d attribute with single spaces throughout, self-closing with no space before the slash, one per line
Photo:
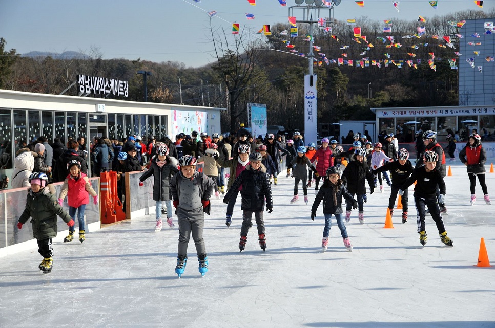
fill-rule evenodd
<path id="1" fill-rule="evenodd" d="M 31 217 L 33 225 L 33 237 L 38 240 L 54 238 L 57 236 L 57 215 L 65 223 L 71 221 L 67 213 L 50 193 L 48 187 L 34 193 L 31 189 L 26 197 L 26 209 L 19 217 L 19 222 L 25 224 Z"/>

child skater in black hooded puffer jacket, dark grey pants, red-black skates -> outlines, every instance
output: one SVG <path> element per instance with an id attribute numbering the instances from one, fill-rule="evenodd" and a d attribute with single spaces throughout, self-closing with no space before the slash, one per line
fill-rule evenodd
<path id="1" fill-rule="evenodd" d="M 303 146 L 304 147 L 304 146 Z M 261 154 L 252 152 L 249 155 L 249 165 L 236 178 L 232 188 L 225 194 L 223 202 L 229 204 L 231 197 L 242 187 L 242 228 L 239 240 L 239 251 L 242 252 L 248 241 L 248 231 L 251 228 L 253 213 L 258 226 L 259 246 L 266 249 L 265 225 L 263 221 L 263 210 L 266 199 L 266 211 L 272 213 L 272 189 L 270 187 L 269 176 L 261 164 Z"/>

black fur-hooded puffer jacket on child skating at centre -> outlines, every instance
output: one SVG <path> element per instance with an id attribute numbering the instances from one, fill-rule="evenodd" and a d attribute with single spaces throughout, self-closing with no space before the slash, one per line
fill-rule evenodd
<path id="1" fill-rule="evenodd" d="M 241 210 L 251 212 L 264 211 L 265 197 L 266 207 L 272 208 L 272 188 L 270 187 L 270 176 L 266 174 L 266 169 L 260 167 L 254 170 L 248 165 L 239 177 L 232 184 L 232 188 L 225 194 L 225 199 L 230 200 L 233 193 L 242 186 Z"/>

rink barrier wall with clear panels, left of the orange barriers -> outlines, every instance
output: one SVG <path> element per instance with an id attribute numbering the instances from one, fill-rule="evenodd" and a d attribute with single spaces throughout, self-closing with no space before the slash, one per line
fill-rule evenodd
<path id="1" fill-rule="evenodd" d="M 90 178 L 90 183 L 96 193 L 99 195 L 99 178 Z M 58 194 L 62 188 L 63 182 L 54 183 L 56 193 Z M 0 191 L 0 212 L 2 213 L 3 220 L 0 222 L 0 257 L 13 254 L 23 250 L 32 250 L 37 248 L 36 239 L 33 238 L 33 228 L 31 225 L 31 219 L 23 225 L 22 230 L 17 229 L 17 222 L 20 215 L 26 208 L 26 196 L 29 188 L 17 188 L 17 189 L 5 189 Z M 99 199 L 100 196 L 98 197 Z M 93 204 L 93 197 L 88 195 L 89 204 L 85 209 L 85 231 L 93 232 L 101 228 L 101 212 L 100 206 Z M 68 212 L 69 205 L 67 204 L 67 197 L 62 204 L 64 209 Z M 77 214 L 76 214 L 77 216 Z M 77 218 L 75 221 L 75 227 L 78 229 Z M 58 217 L 57 221 L 58 233 L 53 242 L 63 242 L 65 236 L 69 231 L 67 224 Z"/>

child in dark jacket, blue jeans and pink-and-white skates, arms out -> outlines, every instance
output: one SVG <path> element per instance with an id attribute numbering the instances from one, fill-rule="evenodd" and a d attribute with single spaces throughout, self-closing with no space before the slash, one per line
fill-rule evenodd
<path id="1" fill-rule="evenodd" d="M 331 166 L 326 170 L 328 179 L 323 181 L 320 191 L 315 197 L 315 202 L 311 208 L 311 220 L 315 220 L 316 210 L 323 200 L 323 214 L 325 215 L 325 228 L 323 228 L 323 239 L 321 240 L 321 248 L 323 252 L 328 248 L 328 237 L 332 228 L 332 214 L 335 215 L 337 225 L 340 229 L 340 234 L 344 239 L 344 246 L 349 252 L 353 251 L 353 245 L 350 244 L 347 230 L 345 229 L 344 220 L 342 218 L 342 196 L 346 201 L 352 203 L 354 209 L 358 208 L 358 202 L 347 191 L 342 180 L 340 180 L 340 168 Z"/>

